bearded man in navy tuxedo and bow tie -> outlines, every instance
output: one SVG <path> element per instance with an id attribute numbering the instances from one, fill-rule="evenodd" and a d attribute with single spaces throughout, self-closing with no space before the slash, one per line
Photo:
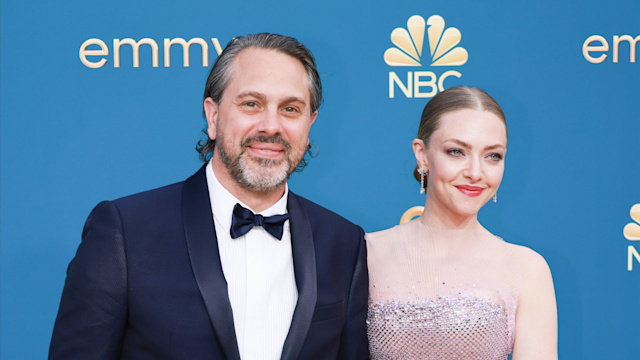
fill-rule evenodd
<path id="1" fill-rule="evenodd" d="M 295 39 L 232 40 L 205 90 L 210 161 L 93 210 L 50 359 L 367 358 L 364 233 L 286 184 L 321 96 Z"/>

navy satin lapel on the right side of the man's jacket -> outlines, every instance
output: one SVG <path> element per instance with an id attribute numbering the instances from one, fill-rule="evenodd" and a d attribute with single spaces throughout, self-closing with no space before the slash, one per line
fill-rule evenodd
<path id="1" fill-rule="evenodd" d="M 318 297 L 318 279 L 316 277 L 316 255 L 311 224 L 300 199 L 291 191 L 289 191 L 287 207 L 291 216 L 289 224 L 291 226 L 293 268 L 298 287 L 298 303 L 293 313 L 287 339 L 284 342 L 281 359 L 295 360 L 300 355 L 313 318 Z"/>

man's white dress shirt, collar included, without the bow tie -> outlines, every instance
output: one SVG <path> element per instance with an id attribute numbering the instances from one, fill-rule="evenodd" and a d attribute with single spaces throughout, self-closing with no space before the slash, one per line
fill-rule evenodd
<path id="1" fill-rule="evenodd" d="M 258 226 L 232 239 L 229 229 L 233 207 L 238 203 L 251 208 L 220 184 L 211 163 L 207 164 L 206 175 L 240 358 L 280 359 L 298 301 L 289 220 L 284 223 L 282 240 Z M 282 198 L 259 214 L 287 213 L 288 193 L 285 186 Z"/>

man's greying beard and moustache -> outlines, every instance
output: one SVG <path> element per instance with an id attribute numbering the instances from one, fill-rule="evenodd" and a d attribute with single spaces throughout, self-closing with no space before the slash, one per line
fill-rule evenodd
<path id="1" fill-rule="evenodd" d="M 234 153 L 235 144 L 225 143 L 221 133 L 216 135 L 216 148 L 220 152 L 220 159 L 229 170 L 231 178 L 242 188 L 250 191 L 269 192 L 284 184 L 289 175 L 296 169 L 304 157 L 305 148 L 293 149 L 291 144 L 280 135 L 267 137 L 258 135 L 245 138 Z M 284 157 L 278 160 L 253 157 L 247 151 L 251 143 L 280 144 L 284 148 Z"/>

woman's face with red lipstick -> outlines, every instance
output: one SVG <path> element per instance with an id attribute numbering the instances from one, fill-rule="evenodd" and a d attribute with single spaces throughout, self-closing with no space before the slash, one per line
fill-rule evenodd
<path id="1" fill-rule="evenodd" d="M 498 191 L 507 152 L 506 127 L 482 110 L 445 113 L 416 157 L 429 171 L 427 209 L 454 217 L 476 216 Z"/>

